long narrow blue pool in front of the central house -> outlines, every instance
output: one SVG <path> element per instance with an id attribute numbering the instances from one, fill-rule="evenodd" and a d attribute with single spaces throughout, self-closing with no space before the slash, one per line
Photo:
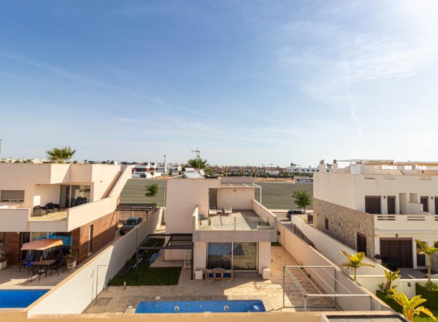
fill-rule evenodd
<path id="1" fill-rule="evenodd" d="M 261 300 L 178 300 L 140 302 L 135 313 L 266 312 Z"/>

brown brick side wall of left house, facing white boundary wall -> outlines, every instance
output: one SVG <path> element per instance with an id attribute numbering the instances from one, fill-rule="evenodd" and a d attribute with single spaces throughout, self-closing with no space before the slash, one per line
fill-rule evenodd
<path id="1" fill-rule="evenodd" d="M 73 230 L 72 248 L 78 253 L 79 260 L 83 261 L 88 257 L 88 232 L 91 225 L 93 225 L 92 253 L 96 253 L 96 251 L 99 251 L 103 246 L 106 246 L 106 244 L 115 239 L 118 222 L 119 215 L 117 212 L 116 214 L 110 213 Z"/>

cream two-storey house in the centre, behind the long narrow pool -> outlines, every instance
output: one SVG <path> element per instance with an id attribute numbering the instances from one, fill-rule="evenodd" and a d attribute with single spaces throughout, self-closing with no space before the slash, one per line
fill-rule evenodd
<path id="1" fill-rule="evenodd" d="M 277 217 L 255 201 L 261 189 L 249 177 L 204 178 L 183 172 L 167 180 L 166 233 L 192 234 L 195 269 L 262 273 L 271 266 Z M 166 250 L 165 260 L 185 251 Z"/>

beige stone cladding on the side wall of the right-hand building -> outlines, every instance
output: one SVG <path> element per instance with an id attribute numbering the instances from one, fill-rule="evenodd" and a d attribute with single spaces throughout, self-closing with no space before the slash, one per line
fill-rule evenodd
<path id="1" fill-rule="evenodd" d="M 335 205 L 317 198 L 313 199 L 313 226 L 328 235 L 356 249 L 356 232 L 367 237 L 367 257 L 374 255 L 374 217 L 347 207 Z M 324 219 L 328 219 L 328 230 Z"/>

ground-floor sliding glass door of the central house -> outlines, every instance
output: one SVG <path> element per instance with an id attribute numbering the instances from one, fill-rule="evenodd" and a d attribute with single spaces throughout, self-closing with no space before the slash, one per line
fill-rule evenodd
<path id="1" fill-rule="evenodd" d="M 257 243 L 208 243 L 207 269 L 257 270 Z"/>

